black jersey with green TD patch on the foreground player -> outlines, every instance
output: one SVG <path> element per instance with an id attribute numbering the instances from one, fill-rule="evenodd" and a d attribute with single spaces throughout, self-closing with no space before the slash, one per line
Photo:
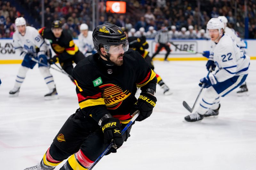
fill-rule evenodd
<path id="1" fill-rule="evenodd" d="M 129 49 L 123 60 L 122 66 L 106 64 L 96 53 L 76 65 L 73 78 L 81 109 L 76 113 L 79 117 L 92 116 L 99 122 L 103 115 L 110 113 L 120 122 L 128 123 L 137 101 L 134 96 L 137 87 L 156 91 L 156 73 L 138 52 Z"/>

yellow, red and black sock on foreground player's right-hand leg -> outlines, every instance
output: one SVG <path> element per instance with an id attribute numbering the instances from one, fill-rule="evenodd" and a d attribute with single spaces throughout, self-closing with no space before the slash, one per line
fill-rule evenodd
<path id="1" fill-rule="evenodd" d="M 81 149 L 69 157 L 68 161 L 63 165 L 65 170 L 87 170 L 94 161 L 87 158 Z M 62 170 L 63 168 L 60 168 Z"/>

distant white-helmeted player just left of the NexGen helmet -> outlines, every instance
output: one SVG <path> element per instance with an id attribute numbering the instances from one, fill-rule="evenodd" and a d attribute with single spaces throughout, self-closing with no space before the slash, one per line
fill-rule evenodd
<path id="1" fill-rule="evenodd" d="M 87 24 L 80 25 L 80 34 L 78 35 L 78 48 L 83 53 L 84 56 L 87 53 L 95 54 L 96 50 L 92 42 L 92 31 L 88 30 Z"/>

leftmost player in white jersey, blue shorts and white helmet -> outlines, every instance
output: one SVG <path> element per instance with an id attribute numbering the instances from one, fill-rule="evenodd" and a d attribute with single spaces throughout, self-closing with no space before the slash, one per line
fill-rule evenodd
<path id="1" fill-rule="evenodd" d="M 9 92 L 11 97 L 18 96 L 20 86 L 26 77 L 28 69 L 33 69 L 36 65 L 36 62 L 31 60 L 32 58 L 38 59 L 39 62 L 47 64 L 47 57 L 45 54 L 48 48 L 36 28 L 26 26 L 26 20 L 23 17 L 16 18 L 15 25 L 17 30 L 13 33 L 13 46 L 15 48 L 15 52 L 23 57 L 23 61 L 18 71 L 14 88 Z M 36 52 L 36 48 L 39 48 L 38 53 Z M 49 93 L 44 95 L 44 99 L 58 99 L 58 93 L 49 68 L 42 64 L 38 64 L 38 66 L 40 73 L 50 90 Z"/>

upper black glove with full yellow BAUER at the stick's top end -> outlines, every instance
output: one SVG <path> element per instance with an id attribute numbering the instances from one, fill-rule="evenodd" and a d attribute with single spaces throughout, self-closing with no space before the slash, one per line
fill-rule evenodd
<path id="1" fill-rule="evenodd" d="M 137 117 L 136 121 L 143 121 L 148 118 L 156 105 L 156 97 L 148 92 L 141 92 L 138 101 L 134 104 L 135 110 L 140 111 L 140 115 Z"/>

